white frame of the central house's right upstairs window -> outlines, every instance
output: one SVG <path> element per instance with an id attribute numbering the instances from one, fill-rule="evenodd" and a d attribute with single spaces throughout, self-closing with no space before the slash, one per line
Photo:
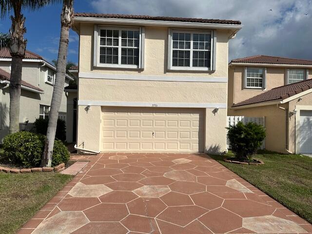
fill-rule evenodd
<path id="1" fill-rule="evenodd" d="M 173 56 L 173 33 L 189 33 L 191 34 L 191 46 L 190 46 L 190 66 L 172 66 Z M 209 67 L 193 67 L 193 34 L 210 34 L 210 64 Z M 190 30 L 190 29 L 169 29 L 168 30 L 168 70 L 178 71 L 215 71 L 215 44 L 216 34 L 214 30 Z M 195 50 L 200 51 L 200 50 Z M 207 51 L 207 50 L 203 50 Z"/>

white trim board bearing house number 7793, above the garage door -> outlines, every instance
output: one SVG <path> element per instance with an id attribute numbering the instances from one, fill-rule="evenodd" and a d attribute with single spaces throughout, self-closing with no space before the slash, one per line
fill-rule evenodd
<path id="1" fill-rule="evenodd" d="M 227 108 L 226 103 L 186 102 L 131 102 L 131 101 L 89 101 L 78 100 L 78 106 L 132 106 L 132 107 L 178 107 L 178 108 Z"/>

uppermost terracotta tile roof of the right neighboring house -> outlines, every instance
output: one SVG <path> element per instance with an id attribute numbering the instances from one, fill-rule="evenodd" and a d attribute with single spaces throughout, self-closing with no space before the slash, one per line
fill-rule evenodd
<path id="1" fill-rule="evenodd" d="M 267 55 L 255 55 L 240 59 L 233 59 L 231 62 L 312 65 L 312 60 L 289 59 Z"/>

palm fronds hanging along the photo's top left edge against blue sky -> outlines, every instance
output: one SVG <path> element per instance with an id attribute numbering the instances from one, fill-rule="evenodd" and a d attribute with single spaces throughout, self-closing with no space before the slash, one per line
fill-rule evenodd
<path id="1" fill-rule="evenodd" d="M 0 0 L 0 16 L 4 19 L 14 8 L 35 11 L 43 6 L 59 2 L 62 0 Z"/>

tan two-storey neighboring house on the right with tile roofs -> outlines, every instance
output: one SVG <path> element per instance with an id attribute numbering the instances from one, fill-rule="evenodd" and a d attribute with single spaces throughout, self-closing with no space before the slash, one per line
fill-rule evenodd
<path id="1" fill-rule="evenodd" d="M 312 60 L 254 56 L 229 65 L 228 114 L 265 117 L 265 148 L 312 153 Z"/>

